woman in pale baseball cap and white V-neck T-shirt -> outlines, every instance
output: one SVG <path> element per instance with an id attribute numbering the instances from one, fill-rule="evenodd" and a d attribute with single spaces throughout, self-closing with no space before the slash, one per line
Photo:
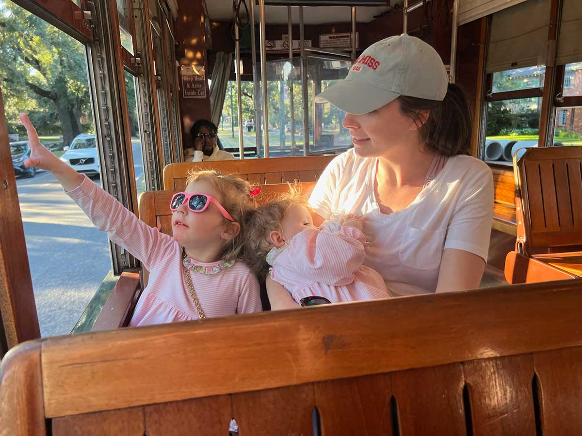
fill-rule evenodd
<path id="1" fill-rule="evenodd" d="M 470 108 L 438 53 L 406 34 L 386 38 L 315 101 L 347 112 L 354 148 L 325 169 L 313 210 L 322 219 L 366 217 L 364 265 L 384 277 L 392 296 L 478 287 L 493 179 L 469 155 Z M 267 284 L 272 308 L 292 306 L 288 292 Z"/>

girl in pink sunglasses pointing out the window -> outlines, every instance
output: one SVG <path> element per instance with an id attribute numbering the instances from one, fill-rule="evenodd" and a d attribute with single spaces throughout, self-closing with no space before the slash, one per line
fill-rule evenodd
<path id="1" fill-rule="evenodd" d="M 200 171 L 173 195 L 173 237 L 147 226 L 84 174 L 61 162 L 20 115 L 31 155 L 24 165 L 51 172 L 95 227 L 150 271 L 130 326 L 171 323 L 261 310 L 257 278 L 238 259 L 243 216 L 253 208 L 248 182 Z"/>

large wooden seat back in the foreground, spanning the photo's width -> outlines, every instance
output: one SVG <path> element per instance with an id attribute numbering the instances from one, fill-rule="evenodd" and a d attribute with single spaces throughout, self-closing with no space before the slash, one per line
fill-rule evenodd
<path id="1" fill-rule="evenodd" d="M 582 434 L 581 285 L 26 342 L 0 366 L 0 434 Z"/>

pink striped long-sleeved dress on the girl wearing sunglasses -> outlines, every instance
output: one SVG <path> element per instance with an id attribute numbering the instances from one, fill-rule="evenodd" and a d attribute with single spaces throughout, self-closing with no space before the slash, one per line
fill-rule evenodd
<path id="1" fill-rule="evenodd" d="M 67 192 L 95 227 L 122 245 L 150 271 L 130 326 L 198 319 L 182 267 L 182 248 L 171 236 L 139 220 L 111 195 L 84 178 Z M 192 264 L 197 267 L 194 269 Z M 201 263 L 186 259 L 194 290 L 207 317 L 261 311 L 257 278 L 243 262 Z M 202 272 L 199 272 L 202 271 Z"/>

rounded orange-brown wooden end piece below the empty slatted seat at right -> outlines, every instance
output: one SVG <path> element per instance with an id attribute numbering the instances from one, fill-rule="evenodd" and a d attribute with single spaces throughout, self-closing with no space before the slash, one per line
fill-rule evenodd
<path id="1" fill-rule="evenodd" d="M 567 278 L 576 278 L 576 276 L 515 251 L 510 251 L 505 258 L 505 280 L 510 284 L 540 283 Z"/>

